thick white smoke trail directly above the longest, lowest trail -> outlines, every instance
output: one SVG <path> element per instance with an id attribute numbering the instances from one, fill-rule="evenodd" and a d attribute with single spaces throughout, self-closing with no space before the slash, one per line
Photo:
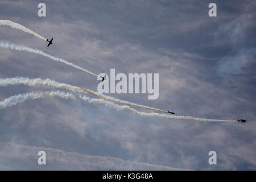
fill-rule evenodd
<path id="1" fill-rule="evenodd" d="M 129 102 L 129 101 L 122 101 L 117 98 L 105 96 L 104 94 L 100 94 L 98 92 L 94 92 L 89 89 L 80 88 L 79 86 L 73 86 L 73 85 L 69 85 L 69 84 L 60 83 L 60 82 L 53 81 L 50 79 L 46 79 L 46 80 L 43 80 L 42 78 L 29 79 L 29 78 L 24 78 L 24 77 L 0 78 L 0 86 L 18 85 L 18 84 L 24 84 L 24 85 L 29 85 L 29 86 L 36 86 L 36 85 L 40 84 L 40 85 L 46 85 L 46 86 L 53 86 L 55 88 L 64 88 L 64 89 L 72 90 L 73 92 L 93 94 L 94 96 L 103 98 L 105 100 L 118 102 L 118 103 L 124 104 L 124 105 L 131 105 L 134 107 L 141 107 L 144 109 L 150 109 L 150 110 L 154 110 L 154 111 L 160 111 L 163 113 L 167 113 L 167 111 L 165 111 L 165 110 L 156 109 L 154 107 L 149 107 L 149 106 L 144 106 L 144 105 L 139 105 L 139 104 L 135 104 L 135 103 Z"/>

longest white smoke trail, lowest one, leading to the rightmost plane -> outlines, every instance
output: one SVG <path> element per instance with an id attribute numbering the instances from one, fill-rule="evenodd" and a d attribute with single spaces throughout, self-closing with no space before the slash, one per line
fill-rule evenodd
<path id="1" fill-rule="evenodd" d="M 127 105 L 117 105 L 114 102 L 106 101 L 99 98 L 90 98 L 86 96 L 76 96 L 71 93 L 51 91 L 51 92 L 28 92 L 23 94 L 18 94 L 15 96 L 11 96 L 6 98 L 4 101 L 0 102 L 0 109 L 4 109 L 9 106 L 14 106 L 26 100 L 35 100 L 37 98 L 45 98 L 45 97 L 54 97 L 58 96 L 64 99 L 73 99 L 73 100 L 82 100 L 85 102 L 93 103 L 93 104 L 104 104 L 105 106 L 112 107 L 116 110 L 130 110 L 135 114 L 142 115 L 144 117 L 160 117 L 160 118 L 168 118 L 168 119 L 183 119 L 183 120 L 192 120 L 192 121 L 202 121 L 202 122 L 237 122 L 230 120 L 222 120 L 222 119 L 204 119 L 204 118 L 194 118 L 189 116 L 179 116 L 179 115 L 168 115 L 168 114 L 159 114 L 159 113 L 144 113 L 138 110 L 135 110 Z"/>

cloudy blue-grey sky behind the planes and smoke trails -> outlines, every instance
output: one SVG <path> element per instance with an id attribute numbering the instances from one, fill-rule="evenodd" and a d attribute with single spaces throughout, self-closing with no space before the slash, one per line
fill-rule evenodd
<path id="1" fill-rule="evenodd" d="M 3 170 L 255 170 L 255 1 L 0 1 L 0 40 L 40 49 L 93 73 L 159 73 L 159 98 L 115 98 L 210 119 L 142 117 L 130 111 L 59 97 L 0 109 Z M 51 78 L 97 91 L 100 81 L 78 69 L 29 52 L 0 48 L 0 77 Z M 0 87 L 4 100 L 47 86 Z M 60 89 L 69 92 L 68 90 Z M 89 97 L 92 97 L 88 95 Z M 151 112 L 150 110 L 138 109 Z M 38 151 L 46 151 L 39 165 Z M 217 164 L 208 163 L 216 151 Z"/>

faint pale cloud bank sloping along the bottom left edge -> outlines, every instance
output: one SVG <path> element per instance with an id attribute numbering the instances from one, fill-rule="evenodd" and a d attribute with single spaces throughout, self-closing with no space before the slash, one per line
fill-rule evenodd
<path id="1" fill-rule="evenodd" d="M 142 162 L 131 162 L 108 156 L 81 155 L 77 152 L 65 152 L 56 148 L 25 146 L 16 143 L 0 142 L 0 168 L 2 170 L 189 170 L 159 166 Z M 39 151 L 46 152 L 46 166 L 39 166 Z"/>

